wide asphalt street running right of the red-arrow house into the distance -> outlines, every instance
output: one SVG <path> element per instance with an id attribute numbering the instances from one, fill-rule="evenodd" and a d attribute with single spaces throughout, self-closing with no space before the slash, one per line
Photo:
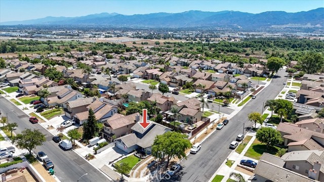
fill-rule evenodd
<path id="1" fill-rule="evenodd" d="M 172 181 L 208 181 L 223 161 L 232 151 L 229 144 L 235 141 L 237 134 L 243 132 L 245 122 L 245 133 L 247 127 L 254 123 L 248 121 L 251 112 L 262 112 L 263 102 L 274 99 L 285 87 L 283 82 L 287 81 L 285 70 L 280 70 L 254 100 L 250 100 L 244 108 L 229 120 L 229 123 L 221 130 L 215 131 L 207 140 L 201 144 L 201 150 L 197 154 L 189 154 L 187 160 L 180 164 L 183 169 L 172 178 Z M 215 108 L 216 110 L 217 108 Z"/>

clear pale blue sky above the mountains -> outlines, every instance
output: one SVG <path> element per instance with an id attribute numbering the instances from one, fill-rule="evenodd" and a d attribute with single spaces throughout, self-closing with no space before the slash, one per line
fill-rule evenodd
<path id="1" fill-rule="evenodd" d="M 248 13 L 265 11 L 300 12 L 324 7 L 323 0 L 315 1 L 86 1 L 86 0 L 0 0 L 0 22 L 29 20 L 47 16 L 76 17 L 96 13 L 119 13 L 124 15 L 157 12 L 179 13 L 189 10 L 224 11 Z"/>

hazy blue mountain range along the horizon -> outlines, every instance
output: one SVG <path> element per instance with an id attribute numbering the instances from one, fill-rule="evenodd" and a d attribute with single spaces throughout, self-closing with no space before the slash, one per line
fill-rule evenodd
<path id="1" fill-rule="evenodd" d="M 269 11 L 259 14 L 238 11 L 151 13 L 121 15 L 100 13 L 81 17 L 45 17 L 34 20 L 2 22 L 1 25 L 100 25 L 142 27 L 220 27 L 264 28 L 272 25 L 324 26 L 324 8 L 307 12 Z"/>

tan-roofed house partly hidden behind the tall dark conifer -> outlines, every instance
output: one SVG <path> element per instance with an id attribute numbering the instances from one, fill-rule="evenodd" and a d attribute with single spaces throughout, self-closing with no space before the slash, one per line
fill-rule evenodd
<path id="1" fill-rule="evenodd" d="M 98 122 L 106 121 L 108 118 L 116 114 L 118 109 L 116 106 L 101 101 L 95 101 L 92 104 L 90 104 L 87 108 L 91 108 L 94 111 L 96 120 Z M 76 123 L 82 125 L 84 122 L 87 122 L 88 115 L 89 111 L 85 111 L 76 113 L 75 115 L 73 115 L 72 118 Z"/>

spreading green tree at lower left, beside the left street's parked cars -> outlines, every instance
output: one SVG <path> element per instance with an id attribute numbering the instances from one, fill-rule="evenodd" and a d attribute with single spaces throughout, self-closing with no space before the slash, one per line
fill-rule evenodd
<path id="1" fill-rule="evenodd" d="M 31 150 L 46 142 L 45 134 L 38 129 L 25 129 L 11 139 L 13 144 L 17 144 L 19 148 L 26 149 L 31 155 Z"/>

